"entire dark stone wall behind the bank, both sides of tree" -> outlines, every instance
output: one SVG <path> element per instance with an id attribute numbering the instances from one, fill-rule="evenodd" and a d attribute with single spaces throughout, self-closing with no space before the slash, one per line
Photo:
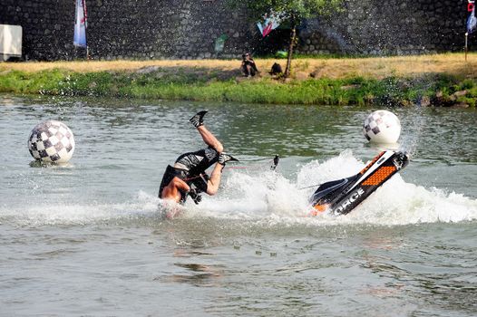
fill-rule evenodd
<path id="1" fill-rule="evenodd" d="M 244 11 L 225 0 L 86 0 L 94 59 L 238 57 L 287 47 L 287 30 L 261 39 Z M 428 53 L 462 51 L 467 0 L 346 0 L 346 12 L 310 20 L 300 53 Z M 24 57 L 74 59 L 74 0 L 0 0 L 0 24 L 24 28 Z M 226 34 L 224 51 L 214 50 Z M 474 35 L 471 45 L 477 46 Z"/>

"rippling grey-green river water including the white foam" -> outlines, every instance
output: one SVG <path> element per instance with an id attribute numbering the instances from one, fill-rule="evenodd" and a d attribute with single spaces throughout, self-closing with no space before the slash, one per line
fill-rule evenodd
<path id="1" fill-rule="evenodd" d="M 241 161 L 167 219 L 161 176 L 203 146 L 204 108 Z M 371 110 L 0 96 L 0 315 L 475 316 L 477 111 L 393 110 L 410 165 L 349 215 L 307 217 L 300 188 L 381 150 Z M 43 120 L 73 130 L 70 163 L 31 164 Z"/>

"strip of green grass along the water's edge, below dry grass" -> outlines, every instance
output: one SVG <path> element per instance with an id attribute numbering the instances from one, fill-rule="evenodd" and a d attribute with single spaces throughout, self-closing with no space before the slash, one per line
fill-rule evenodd
<path id="1" fill-rule="evenodd" d="M 441 97 L 436 97 L 441 91 Z M 465 91 L 453 97 L 456 91 Z M 427 98 L 436 105 L 465 103 L 475 107 L 477 82 L 446 74 L 307 79 L 278 82 L 270 78 L 239 80 L 217 71 L 177 68 L 139 72 L 0 73 L 0 92 L 70 96 L 108 96 L 188 101 L 238 101 L 276 104 L 406 106 Z"/>

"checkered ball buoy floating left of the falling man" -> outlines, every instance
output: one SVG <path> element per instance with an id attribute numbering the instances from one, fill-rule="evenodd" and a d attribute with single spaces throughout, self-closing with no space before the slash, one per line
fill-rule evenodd
<path id="1" fill-rule="evenodd" d="M 63 122 L 44 121 L 30 133 L 28 149 L 37 161 L 66 163 L 73 157 L 73 132 Z"/>

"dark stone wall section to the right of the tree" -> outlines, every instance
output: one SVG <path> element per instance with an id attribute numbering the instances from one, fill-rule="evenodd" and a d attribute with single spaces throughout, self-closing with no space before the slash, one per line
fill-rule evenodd
<path id="1" fill-rule="evenodd" d="M 346 0 L 346 11 L 307 21 L 300 53 L 462 52 L 467 0 Z M 477 34 L 470 36 L 477 48 Z"/>

